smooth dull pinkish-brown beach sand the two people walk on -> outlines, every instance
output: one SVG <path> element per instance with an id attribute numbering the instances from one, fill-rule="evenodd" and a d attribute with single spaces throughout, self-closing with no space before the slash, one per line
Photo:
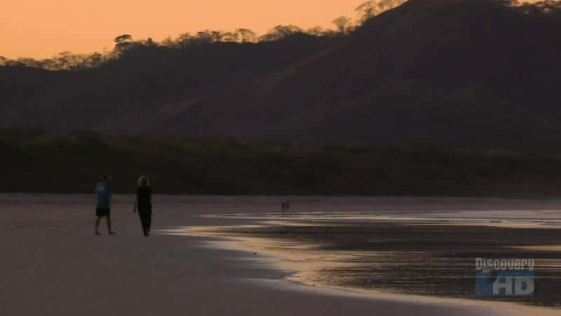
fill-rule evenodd
<path id="1" fill-rule="evenodd" d="M 561 315 L 511 304 L 319 289 L 286 281 L 251 252 L 201 247 L 201 238 L 154 233 L 142 237 L 130 196 L 115 197 L 115 236 L 93 235 L 92 197 L 0 195 L 0 315 Z M 283 198 L 165 197 L 155 199 L 154 230 L 230 225 L 199 217 L 278 211 Z M 293 209 L 364 210 L 406 207 L 400 199 L 291 198 Z M 417 199 L 416 208 L 484 200 Z M 513 202 L 495 201 L 507 209 Z M 537 203 L 537 204 L 536 204 Z M 422 204 L 422 205 L 421 205 Z M 411 204 L 412 205 L 412 204 Z M 475 206 L 473 206 L 475 205 Z M 555 209 L 559 202 L 516 202 Z M 248 220 L 248 223 L 251 223 Z"/>

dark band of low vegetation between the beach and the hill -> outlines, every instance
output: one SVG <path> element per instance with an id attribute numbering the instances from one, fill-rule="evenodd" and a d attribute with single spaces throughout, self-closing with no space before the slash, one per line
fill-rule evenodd
<path id="1" fill-rule="evenodd" d="M 232 138 L 100 136 L 4 130 L 0 192 L 118 192 L 151 178 L 157 193 L 558 197 L 561 157 L 442 145 L 295 147 Z"/>

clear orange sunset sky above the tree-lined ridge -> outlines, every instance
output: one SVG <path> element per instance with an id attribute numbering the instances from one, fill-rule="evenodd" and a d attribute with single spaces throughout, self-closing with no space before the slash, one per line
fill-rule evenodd
<path id="1" fill-rule="evenodd" d="M 279 24 L 321 25 L 356 17 L 364 0 L 4 0 L 0 55 L 48 58 L 61 51 L 91 53 L 119 34 L 156 40 L 200 29 L 238 27 L 262 34 Z"/>

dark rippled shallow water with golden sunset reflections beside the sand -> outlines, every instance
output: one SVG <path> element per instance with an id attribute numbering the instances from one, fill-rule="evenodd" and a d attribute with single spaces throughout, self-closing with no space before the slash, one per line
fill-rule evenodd
<path id="1" fill-rule="evenodd" d="M 536 297 L 561 307 L 561 221 L 557 211 L 315 212 L 238 214 L 257 225 L 175 233 L 223 237 L 258 249 L 307 284 L 400 294 L 475 298 L 475 258 L 536 259 Z"/>

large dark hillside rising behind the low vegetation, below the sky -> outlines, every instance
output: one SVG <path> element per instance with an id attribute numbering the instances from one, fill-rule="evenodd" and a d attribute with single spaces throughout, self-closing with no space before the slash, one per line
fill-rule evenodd
<path id="1" fill-rule="evenodd" d="M 0 67 L 0 125 L 557 152 L 560 12 L 410 0 L 339 37 L 144 45 L 88 70 Z"/>

